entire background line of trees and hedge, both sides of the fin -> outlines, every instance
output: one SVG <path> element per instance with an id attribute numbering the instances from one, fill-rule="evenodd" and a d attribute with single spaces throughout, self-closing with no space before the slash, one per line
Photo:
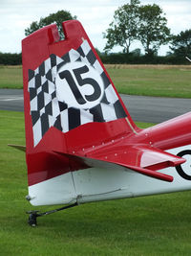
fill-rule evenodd
<path id="1" fill-rule="evenodd" d="M 52 23 L 56 23 L 61 39 L 64 38 L 62 21 L 76 19 L 68 11 L 51 13 L 33 21 L 25 30 L 25 35 Z M 130 4 L 117 9 L 109 28 L 103 33 L 106 45 L 103 52 L 97 53 L 104 63 L 188 63 L 185 57 L 191 58 L 191 29 L 181 31 L 179 35 L 172 35 L 167 27 L 167 19 L 162 9 L 156 5 L 141 5 L 139 0 L 131 0 Z M 140 42 L 144 54 L 140 49 L 130 51 L 135 42 Z M 161 45 L 170 44 L 170 52 L 165 57 L 159 57 Z M 112 53 L 115 46 L 122 51 Z M 21 54 L 0 53 L 0 64 L 21 64 Z"/>

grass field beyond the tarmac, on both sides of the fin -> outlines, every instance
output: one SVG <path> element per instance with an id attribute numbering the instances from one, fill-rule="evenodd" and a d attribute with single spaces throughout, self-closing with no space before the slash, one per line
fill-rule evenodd
<path id="1" fill-rule="evenodd" d="M 106 65 L 119 93 L 191 98 L 191 65 Z M 0 88 L 22 88 L 21 66 L 0 66 Z"/>

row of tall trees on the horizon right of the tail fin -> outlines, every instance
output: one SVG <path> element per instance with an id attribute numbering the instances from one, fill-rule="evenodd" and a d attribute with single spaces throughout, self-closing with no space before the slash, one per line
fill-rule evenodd
<path id="1" fill-rule="evenodd" d="M 130 4 L 117 9 L 103 37 L 107 39 L 105 53 L 120 46 L 124 54 L 130 54 L 130 46 L 139 41 L 146 57 L 142 59 L 151 60 L 158 56 L 159 47 L 165 44 L 170 44 L 168 59 L 169 56 L 174 59 L 191 56 L 191 29 L 172 35 L 162 9 L 156 4 L 141 5 L 139 0 L 131 0 Z M 138 50 L 132 51 L 131 55 L 141 56 Z"/>

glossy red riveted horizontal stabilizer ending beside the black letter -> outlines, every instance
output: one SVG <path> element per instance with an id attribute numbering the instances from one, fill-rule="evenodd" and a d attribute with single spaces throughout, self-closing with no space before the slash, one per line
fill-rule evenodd
<path id="1" fill-rule="evenodd" d="M 87 156 L 151 171 L 178 166 L 185 162 L 180 156 L 161 151 L 149 145 L 114 145 L 107 150 L 102 148 L 99 151 L 92 151 Z"/>

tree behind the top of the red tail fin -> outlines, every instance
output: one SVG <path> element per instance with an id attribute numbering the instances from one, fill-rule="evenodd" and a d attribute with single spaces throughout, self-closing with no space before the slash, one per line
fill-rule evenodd
<path id="1" fill-rule="evenodd" d="M 41 29 L 52 23 L 56 23 L 60 38 L 63 39 L 64 33 L 62 30 L 62 22 L 69 19 L 76 19 L 76 16 L 72 16 L 71 12 L 63 10 L 51 13 L 47 17 L 41 17 L 39 22 L 33 21 L 30 27 L 25 30 L 25 35 L 31 35 L 34 31 L 37 31 L 38 29 Z"/>

